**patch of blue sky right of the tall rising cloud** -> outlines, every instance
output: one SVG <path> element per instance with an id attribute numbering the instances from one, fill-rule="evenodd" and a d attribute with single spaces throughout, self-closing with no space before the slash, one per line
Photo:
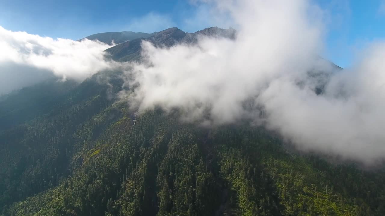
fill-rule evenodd
<path id="1" fill-rule="evenodd" d="M 385 39 L 385 0 L 319 0 L 330 11 L 326 56 L 342 67 L 371 42 Z"/>

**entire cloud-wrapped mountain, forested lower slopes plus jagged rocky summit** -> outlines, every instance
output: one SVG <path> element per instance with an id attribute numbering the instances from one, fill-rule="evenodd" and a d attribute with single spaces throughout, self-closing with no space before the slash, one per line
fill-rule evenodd
<path id="1" fill-rule="evenodd" d="M 148 40 L 170 46 L 232 32 L 171 28 Z M 111 54 L 137 58 L 140 41 Z M 159 108 L 137 116 L 111 99 L 121 73 L 0 98 L 1 216 L 385 215 L 383 169 L 295 152 L 246 122 L 205 128 Z"/>

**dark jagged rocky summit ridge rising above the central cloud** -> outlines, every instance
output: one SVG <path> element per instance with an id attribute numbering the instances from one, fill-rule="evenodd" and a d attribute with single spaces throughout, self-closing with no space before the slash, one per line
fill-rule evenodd
<path id="1" fill-rule="evenodd" d="M 166 45 L 167 47 L 171 47 L 177 43 L 196 43 L 198 42 L 199 36 L 226 37 L 234 39 L 235 33 L 236 32 L 233 28 L 223 29 L 218 27 L 205 28 L 204 30 L 195 33 L 186 33 L 174 27 L 157 32 L 151 37 L 145 39 L 138 38 L 136 40 L 118 44 L 105 50 L 105 52 L 111 54 L 112 60 L 115 61 L 133 61 L 139 60 L 141 57 L 140 53 L 142 40 L 149 41 L 156 46 Z"/>

